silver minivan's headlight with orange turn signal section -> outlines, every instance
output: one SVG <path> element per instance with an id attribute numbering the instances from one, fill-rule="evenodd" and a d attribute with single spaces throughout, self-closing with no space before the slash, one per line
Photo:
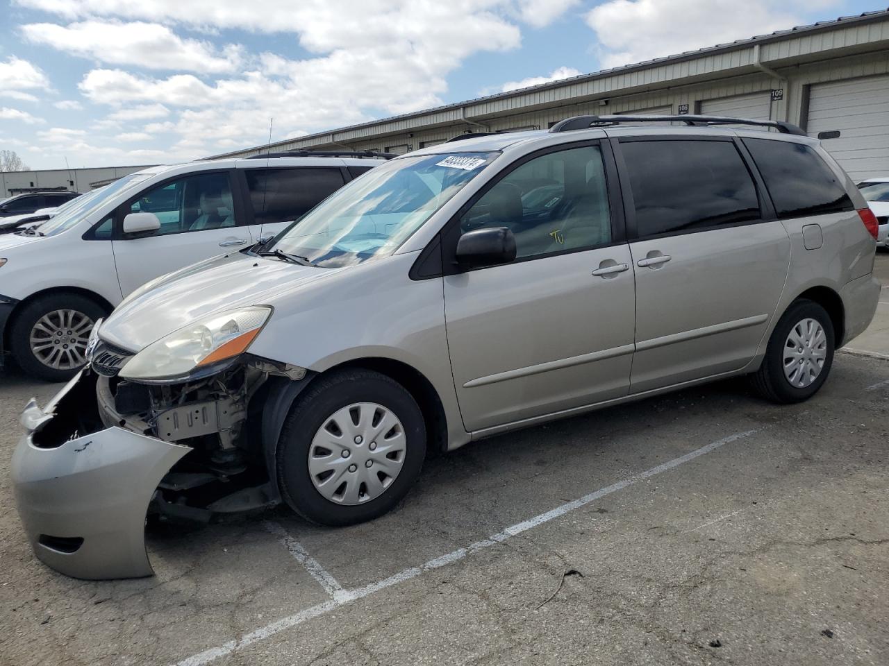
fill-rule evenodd
<path id="1" fill-rule="evenodd" d="M 196 370 L 247 351 L 272 313 L 258 305 L 213 314 L 173 331 L 127 361 L 120 377 L 135 380 L 186 378 Z"/>

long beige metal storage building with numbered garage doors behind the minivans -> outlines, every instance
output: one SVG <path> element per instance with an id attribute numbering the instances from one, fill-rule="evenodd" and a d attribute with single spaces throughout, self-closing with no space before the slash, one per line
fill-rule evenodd
<path id="1" fill-rule="evenodd" d="M 889 11 L 279 141 L 271 149 L 405 153 L 467 131 L 545 129 L 572 115 L 628 113 L 734 115 L 797 123 L 812 136 L 838 132 L 824 146 L 853 178 L 889 176 Z"/>

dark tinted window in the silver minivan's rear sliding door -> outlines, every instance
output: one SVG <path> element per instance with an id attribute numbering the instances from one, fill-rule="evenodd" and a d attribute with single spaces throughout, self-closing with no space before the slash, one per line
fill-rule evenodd
<path id="1" fill-rule="evenodd" d="M 622 141 L 639 237 L 760 218 L 757 188 L 731 141 Z"/>

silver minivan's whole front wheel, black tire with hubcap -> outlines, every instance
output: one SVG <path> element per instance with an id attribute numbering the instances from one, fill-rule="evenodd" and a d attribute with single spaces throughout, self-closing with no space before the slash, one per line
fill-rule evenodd
<path id="1" fill-rule="evenodd" d="M 380 438 L 385 441 L 378 444 Z M 353 525 L 395 507 L 420 476 L 425 457 L 426 425 L 411 394 L 380 373 L 342 370 L 313 381 L 285 419 L 276 452 L 278 488 L 310 522 Z"/>

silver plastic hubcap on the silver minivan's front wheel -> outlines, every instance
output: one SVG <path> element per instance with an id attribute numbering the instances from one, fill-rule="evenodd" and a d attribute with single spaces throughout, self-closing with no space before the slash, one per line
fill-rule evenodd
<path id="1" fill-rule="evenodd" d="M 308 448 L 308 475 L 338 504 L 370 502 L 386 492 L 404 464 L 404 426 L 388 408 L 356 402 L 329 416 Z"/>

